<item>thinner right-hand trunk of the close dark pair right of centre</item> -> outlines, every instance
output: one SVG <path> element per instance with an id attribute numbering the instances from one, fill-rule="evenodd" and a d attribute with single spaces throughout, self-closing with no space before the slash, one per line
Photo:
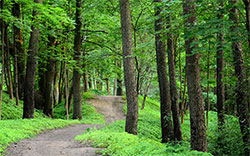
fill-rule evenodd
<path id="1" fill-rule="evenodd" d="M 167 24 L 168 29 L 171 29 L 171 15 L 167 15 Z M 179 105 L 178 105 L 178 92 L 176 86 L 176 77 L 175 77 L 175 63 L 174 63 L 174 43 L 173 43 L 173 34 L 167 34 L 167 47 L 168 47 L 168 67 L 169 67 L 169 77 L 170 77 L 170 95 L 171 95 L 171 109 L 174 121 L 174 138 L 176 141 L 182 141 L 181 134 L 181 124 L 179 119 Z"/>

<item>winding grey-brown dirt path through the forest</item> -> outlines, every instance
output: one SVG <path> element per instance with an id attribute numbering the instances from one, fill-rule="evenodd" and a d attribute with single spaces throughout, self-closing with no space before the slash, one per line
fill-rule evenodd
<path id="1" fill-rule="evenodd" d="M 106 125 L 124 119 L 122 97 L 118 96 L 97 96 L 96 99 L 89 100 L 89 103 L 102 113 L 106 120 Z M 37 135 L 32 139 L 25 139 L 13 143 L 6 150 L 6 156 L 98 156 L 93 148 L 86 144 L 81 144 L 74 140 L 90 127 L 100 128 L 103 125 L 77 124 L 63 129 L 51 130 Z M 101 137 L 101 136 L 100 136 Z"/>

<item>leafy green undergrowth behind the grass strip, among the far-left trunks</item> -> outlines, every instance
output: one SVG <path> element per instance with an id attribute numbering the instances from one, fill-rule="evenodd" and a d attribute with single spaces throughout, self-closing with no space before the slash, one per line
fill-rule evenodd
<path id="1" fill-rule="evenodd" d="M 44 117 L 42 112 L 35 110 L 35 118 Z M 2 101 L 2 120 L 6 119 L 21 119 L 23 117 L 23 101 L 20 101 L 20 106 L 16 106 L 15 100 L 10 100 L 9 95 L 3 93 Z"/>

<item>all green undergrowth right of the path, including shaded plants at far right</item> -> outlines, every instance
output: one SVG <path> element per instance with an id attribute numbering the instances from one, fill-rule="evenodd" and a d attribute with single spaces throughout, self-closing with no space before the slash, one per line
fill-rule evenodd
<path id="1" fill-rule="evenodd" d="M 143 97 L 139 97 L 139 108 Z M 124 107 L 126 112 L 126 107 Z M 243 143 L 237 118 L 226 116 L 226 124 L 223 134 L 218 133 L 217 114 L 209 113 L 209 128 L 207 131 L 208 152 L 215 155 L 242 155 Z M 185 116 L 182 124 L 182 145 L 162 144 L 160 127 L 160 104 L 156 100 L 147 99 L 145 109 L 139 110 L 138 135 L 134 136 L 124 132 L 125 121 L 117 121 L 100 130 L 90 129 L 76 140 L 90 141 L 96 147 L 106 148 L 103 154 L 112 156 L 208 156 L 203 153 L 190 150 L 190 121 L 189 115 Z M 223 147 L 218 147 L 218 137 L 222 136 Z"/>

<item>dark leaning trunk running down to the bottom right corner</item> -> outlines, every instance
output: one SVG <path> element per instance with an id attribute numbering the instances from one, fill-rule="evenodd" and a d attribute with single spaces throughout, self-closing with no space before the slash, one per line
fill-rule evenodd
<path id="1" fill-rule="evenodd" d="M 239 124 L 242 133 L 242 139 L 245 146 L 245 155 L 250 154 L 250 122 L 249 122 L 249 112 L 248 112 L 248 99 L 247 99 L 247 80 L 244 72 L 244 60 L 242 45 L 237 36 L 239 34 L 239 10 L 237 8 L 238 0 L 229 1 L 232 9 L 230 10 L 230 19 L 233 22 L 231 26 L 232 38 L 236 38 L 232 41 L 232 51 L 234 56 L 234 66 L 235 74 L 237 77 L 237 88 L 236 88 L 236 103 L 239 115 Z"/>

